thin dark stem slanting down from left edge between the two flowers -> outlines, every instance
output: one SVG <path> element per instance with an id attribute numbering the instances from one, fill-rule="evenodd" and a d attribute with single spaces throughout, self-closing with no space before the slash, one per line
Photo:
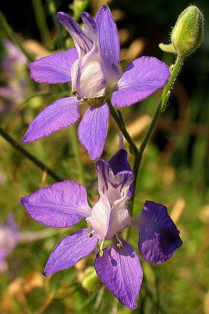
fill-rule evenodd
<path id="1" fill-rule="evenodd" d="M 36 158 L 35 156 L 33 156 L 30 152 L 28 152 L 27 150 L 25 150 L 19 143 L 17 143 L 17 141 L 15 141 L 15 139 L 13 139 L 7 132 L 5 129 L 3 129 L 2 127 L 0 127 L 0 135 L 3 137 L 3 139 L 6 139 L 6 141 L 8 141 L 8 143 L 11 144 L 11 146 L 13 146 L 16 150 L 19 150 L 19 152 L 22 153 L 22 155 L 24 155 L 27 159 L 31 160 L 31 162 L 33 162 L 33 164 L 36 164 L 36 166 L 38 166 L 39 168 L 41 168 L 43 171 L 47 171 L 47 173 L 54 178 L 57 181 L 63 181 L 63 178 L 61 178 L 59 175 L 57 175 L 51 168 L 49 168 L 48 166 L 46 166 L 45 164 L 43 164 L 42 162 L 40 162 L 40 160 L 38 158 Z"/>

